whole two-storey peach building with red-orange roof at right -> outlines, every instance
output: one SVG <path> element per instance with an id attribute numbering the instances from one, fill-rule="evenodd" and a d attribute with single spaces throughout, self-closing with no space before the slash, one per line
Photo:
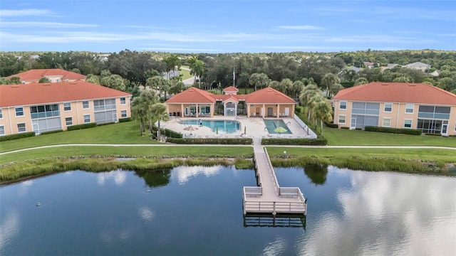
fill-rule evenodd
<path id="1" fill-rule="evenodd" d="M 338 127 L 420 129 L 456 135 L 456 95 L 426 83 L 371 82 L 333 97 Z"/>

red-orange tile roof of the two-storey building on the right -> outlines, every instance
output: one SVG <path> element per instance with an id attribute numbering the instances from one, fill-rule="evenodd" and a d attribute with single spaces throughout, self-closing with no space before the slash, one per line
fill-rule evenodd
<path id="1" fill-rule="evenodd" d="M 426 83 L 371 82 L 343 89 L 333 100 L 456 105 L 456 95 Z"/>

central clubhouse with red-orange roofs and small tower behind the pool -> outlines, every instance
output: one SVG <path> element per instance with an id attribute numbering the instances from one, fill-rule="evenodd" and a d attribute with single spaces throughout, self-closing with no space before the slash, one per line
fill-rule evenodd
<path id="1" fill-rule="evenodd" d="M 237 88 L 227 87 L 223 95 L 214 95 L 196 87 L 178 93 L 165 102 L 167 112 L 177 117 L 213 117 L 222 114 L 236 117 L 294 117 L 296 102 L 282 92 L 266 87 L 248 95 L 238 95 Z"/>

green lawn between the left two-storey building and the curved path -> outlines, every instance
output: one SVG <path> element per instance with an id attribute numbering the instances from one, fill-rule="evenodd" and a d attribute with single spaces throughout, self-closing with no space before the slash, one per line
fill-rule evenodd
<path id="1" fill-rule="evenodd" d="M 58 132 L 44 134 L 31 138 L 15 139 L 0 142 L 0 152 L 15 149 L 26 149 L 35 146 L 74 144 L 74 143 L 97 143 L 97 144 L 158 144 L 149 139 L 148 132 L 140 137 L 140 125 L 138 122 L 123 122 L 108 124 L 90 129 L 77 131 Z M 3 156 L 2 156 L 3 158 Z"/>

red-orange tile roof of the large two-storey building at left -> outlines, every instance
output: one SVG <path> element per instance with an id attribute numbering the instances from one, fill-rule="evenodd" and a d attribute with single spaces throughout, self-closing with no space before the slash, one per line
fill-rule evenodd
<path id="1" fill-rule="evenodd" d="M 121 92 L 86 81 L 0 85 L 0 107 L 94 100 L 122 96 L 128 97 L 131 95 L 127 92 Z"/>

